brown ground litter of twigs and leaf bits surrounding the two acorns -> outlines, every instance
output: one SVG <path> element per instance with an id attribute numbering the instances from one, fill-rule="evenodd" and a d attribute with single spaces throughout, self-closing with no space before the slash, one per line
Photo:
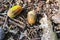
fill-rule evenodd
<path id="1" fill-rule="evenodd" d="M 7 16 L 7 12 L 15 5 L 21 5 L 23 10 L 21 14 L 11 19 Z M 58 0 L 0 0 L 0 27 L 5 34 L 3 40 L 57 39 L 55 34 L 60 35 L 59 5 Z M 36 21 L 30 25 L 27 14 L 33 9 Z"/>

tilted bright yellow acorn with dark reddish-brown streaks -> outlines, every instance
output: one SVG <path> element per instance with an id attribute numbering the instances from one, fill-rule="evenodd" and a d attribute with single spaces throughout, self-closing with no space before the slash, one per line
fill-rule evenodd
<path id="1" fill-rule="evenodd" d="M 10 17 L 10 18 L 14 18 L 15 16 L 17 16 L 18 14 L 20 14 L 22 11 L 22 7 L 19 6 L 19 5 L 15 5 L 13 6 L 12 8 L 10 8 L 7 12 L 7 15 Z"/>

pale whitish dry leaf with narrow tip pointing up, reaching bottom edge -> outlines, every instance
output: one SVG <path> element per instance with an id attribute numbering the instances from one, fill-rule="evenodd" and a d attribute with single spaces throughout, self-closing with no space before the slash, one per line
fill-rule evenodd
<path id="1" fill-rule="evenodd" d="M 47 18 L 46 14 L 44 14 L 44 17 L 40 22 L 43 27 L 43 35 L 41 40 L 58 40 L 56 34 L 53 32 L 51 21 Z"/>

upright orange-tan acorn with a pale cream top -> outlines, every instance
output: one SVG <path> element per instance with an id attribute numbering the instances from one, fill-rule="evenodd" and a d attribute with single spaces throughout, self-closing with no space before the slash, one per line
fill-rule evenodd
<path id="1" fill-rule="evenodd" d="M 36 13 L 34 10 L 28 12 L 27 21 L 30 25 L 33 25 L 36 22 Z"/>

